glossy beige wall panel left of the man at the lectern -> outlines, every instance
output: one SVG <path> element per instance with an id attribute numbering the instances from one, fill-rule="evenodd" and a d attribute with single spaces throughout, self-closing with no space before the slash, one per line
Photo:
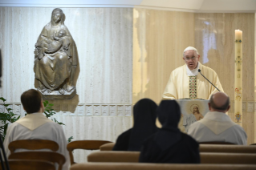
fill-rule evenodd
<path id="1" fill-rule="evenodd" d="M 185 47 L 194 45 L 194 14 L 134 9 L 132 103 L 160 103 L 171 71 L 184 64 Z"/>

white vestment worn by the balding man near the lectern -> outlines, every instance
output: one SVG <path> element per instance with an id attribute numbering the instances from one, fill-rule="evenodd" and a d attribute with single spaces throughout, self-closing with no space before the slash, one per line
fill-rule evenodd
<path id="1" fill-rule="evenodd" d="M 229 115 L 218 111 L 209 111 L 204 119 L 191 124 L 188 134 L 197 142 L 247 144 L 247 135 L 243 128 L 234 123 Z"/>

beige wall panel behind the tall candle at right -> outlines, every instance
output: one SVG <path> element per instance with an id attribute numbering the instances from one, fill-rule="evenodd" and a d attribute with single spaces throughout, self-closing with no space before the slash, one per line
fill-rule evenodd
<path id="1" fill-rule="evenodd" d="M 254 15 L 195 14 L 195 47 L 201 54 L 201 63 L 217 72 L 231 100 L 234 100 L 234 30 L 242 30 L 242 127 L 248 135 L 248 144 L 254 143 L 254 114 L 247 112 L 247 102 L 254 101 Z M 229 115 L 235 119 L 234 111 Z"/>

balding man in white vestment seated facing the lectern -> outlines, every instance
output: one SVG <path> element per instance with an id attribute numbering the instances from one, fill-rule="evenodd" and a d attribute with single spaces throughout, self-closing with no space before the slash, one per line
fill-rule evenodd
<path id="1" fill-rule="evenodd" d="M 226 111 L 230 109 L 230 97 L 217 92 L 209 99 L 209 112 L 189 127 L 188 134 L 197 142 L 230 142 L 247 144 L 247 135 L 242 127 L 234 123 Z"/>

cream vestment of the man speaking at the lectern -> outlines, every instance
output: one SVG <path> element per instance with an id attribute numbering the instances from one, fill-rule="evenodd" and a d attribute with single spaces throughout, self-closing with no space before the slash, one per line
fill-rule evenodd
<path id="1" fill-rule="evenodd" d="M 189 98 L 189 76 L 197 76 L 198 99 L 209 99 L 213 93 L 216 93 L 217 89 L 213 87 L 203 76 L 198 74 L 198 68 L 201 70 L 202 75 L 205 75 L 211 83 L 213 83 L 220 91 L 223 91 L 216 72 L 198 62 L 197 68 L 194 69 L 194 71 L 189 71 L 186 64 L 172 71 L 169 82 L 165 87 L 163 99 Z"/>

